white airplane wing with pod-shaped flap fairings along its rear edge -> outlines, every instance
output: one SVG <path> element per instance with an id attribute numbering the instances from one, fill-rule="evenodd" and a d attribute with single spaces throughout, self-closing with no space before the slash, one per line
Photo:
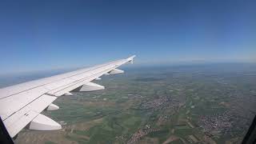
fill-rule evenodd
<path id="1" fill-rule="evenodd" d="M 42 110 L 58 110 L 52 102 L 59 96 L 71 95 L 71 90 L 104 89 L 90 81 L 100 79 L 103 74 L 123 73 L 116 68 L 132 63 L 134 57 L 0 89 L 0 116 L 10 137 L 14 138 L 25 126 L 30 130 L 61 129 L 58 122 L 40 114 Z"/>

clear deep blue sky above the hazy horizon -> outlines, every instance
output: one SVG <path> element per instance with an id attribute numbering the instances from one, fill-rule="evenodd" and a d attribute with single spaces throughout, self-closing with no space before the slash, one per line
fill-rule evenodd
<path id="1" fill-rule="evenodd" d="M 256 1 L 0 2 L 0 73 L 146 62 L 256 62 Z"/>

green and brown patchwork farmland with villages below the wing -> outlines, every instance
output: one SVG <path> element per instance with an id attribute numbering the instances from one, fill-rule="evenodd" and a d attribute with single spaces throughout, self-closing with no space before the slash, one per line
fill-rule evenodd
<path id="1" fill-rule="evenodd" d="M 43 112 L 59 122 L 62 130 L 24 129 L 15 142 L 241 143 L 256 114 L 255 64 L 123 70 L 125 74 L 94 81 L 106 90 L 73 92 L 54 102 L 59 110 Z"/>

